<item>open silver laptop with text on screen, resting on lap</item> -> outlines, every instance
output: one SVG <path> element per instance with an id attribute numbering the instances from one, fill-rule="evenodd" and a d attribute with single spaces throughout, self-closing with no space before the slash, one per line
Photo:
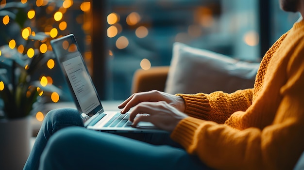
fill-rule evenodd
<path id="1" fill-rule="evenodd" d="M 117 133 L 168 133 L 149 122 L 140 122 L 136 127 L 132 127 L 129 121 L 130 112 L 120 114 L 102 108 L 100 97 L 73 34 L 51 40 L 51 46 L 86 128 Z"/>

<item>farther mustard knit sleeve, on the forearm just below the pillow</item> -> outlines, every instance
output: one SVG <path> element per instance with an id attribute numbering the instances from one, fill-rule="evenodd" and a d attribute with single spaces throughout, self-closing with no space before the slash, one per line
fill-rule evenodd
<path id="1" fill-rule="evenodd" d="M 234 93 L 221 91 L 205 94 L 175 94 L 185 100 L 185 113 L 189 116 L 223 124 L 235 111 L 245 111 L 253 99 L 253 89 Z"/>

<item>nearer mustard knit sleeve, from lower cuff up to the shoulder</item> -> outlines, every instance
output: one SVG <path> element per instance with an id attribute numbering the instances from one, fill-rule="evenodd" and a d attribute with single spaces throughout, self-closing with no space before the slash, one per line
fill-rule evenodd
<path id="1" fill-rule="evenodd" d="M 270 124 L 238 130 L 187 117 L 175 127 L 171 138 L 215 169 L 291 170 L 304 152 L 304 41 L 297 45 L 301 48 L 292 49 L 293 57 L 287 61 L 286 81 L 279 88 L 282 99 Z"/>

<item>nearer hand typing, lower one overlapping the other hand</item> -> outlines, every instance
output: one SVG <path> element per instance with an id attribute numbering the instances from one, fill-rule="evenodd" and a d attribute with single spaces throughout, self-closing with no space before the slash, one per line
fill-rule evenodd
<path id="1" fill-rule="evenodd" d="M 134 119 L 137 114 L 143 113 L 148 113 L 148 116 L 139 116 Z M 188 115 L 173 108 L 165 101 L 141 102 L 131 111 L 130 121 L 133 122 L 132 126 L 134 127 L 141 121 L 151 122 L 155 126 L 171 132 L 176 125 L 186 117 L 188 117 Z"/>

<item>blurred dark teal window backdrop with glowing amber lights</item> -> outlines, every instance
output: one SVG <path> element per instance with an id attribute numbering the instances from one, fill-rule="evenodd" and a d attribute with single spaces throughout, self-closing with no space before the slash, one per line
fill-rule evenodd
<path id="1" fill-rule="evenodd" d="M 0 0 L 0 9 L 10 2 L 21 6 L 15 18 L 0 11 L 0 46 L 13 43 L 31 57 L 51 53 L 51 39 L 75 34 L 101 100 L 126 99 L 135 70 L 169 65 L 174 42 L 259 62 L 299 18 L 281 11 L 278 0 Z M 32 77 L 65 93 L 44 100 L 71 102 L 59 66 L 48 60 Z M 34 113 L 39 121 L 45 114 Z"/>

